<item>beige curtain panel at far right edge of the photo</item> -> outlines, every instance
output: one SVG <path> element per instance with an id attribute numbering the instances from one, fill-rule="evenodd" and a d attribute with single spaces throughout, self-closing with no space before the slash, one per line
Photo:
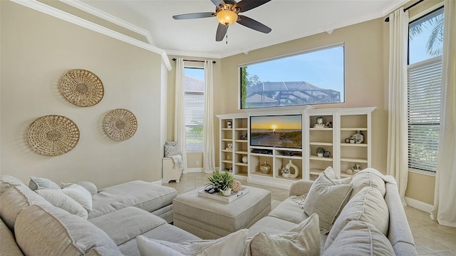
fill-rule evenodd
<path id="1" fill-rule="evenodd" d="M 442 108 L 434 208 L 430 217 L 456 227 L 456 1 L 444 1 Z"/>

